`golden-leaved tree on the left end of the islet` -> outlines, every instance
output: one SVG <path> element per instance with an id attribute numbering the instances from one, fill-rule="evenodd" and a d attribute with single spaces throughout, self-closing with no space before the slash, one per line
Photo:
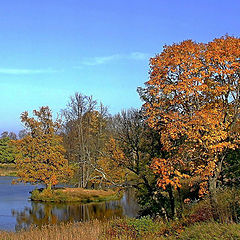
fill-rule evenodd
<path id="1" fill-rule="evenodd" d="M 19 181 L 43 183 L 48 189 L 71 176 L 62 137 L 57 134 L 60 124 L 53 121 L 49 107 L 21 114 L 27 135 L 15 141 Z"/>

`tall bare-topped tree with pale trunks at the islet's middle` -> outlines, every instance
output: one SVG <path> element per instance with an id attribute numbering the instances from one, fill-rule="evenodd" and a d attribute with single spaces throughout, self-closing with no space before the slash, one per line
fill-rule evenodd
<path id="1" fill-rule="evenodd" d="M 64 144 L 67 158 L 75 164 L 79 187 L 103 180 L 98 161 L 103 159 L 107 138 L 107 108 L 92 96 L 75 93 L 70 97 L 64 116 Z M 100 177 L 99 174 L 102 176 Z"/>

